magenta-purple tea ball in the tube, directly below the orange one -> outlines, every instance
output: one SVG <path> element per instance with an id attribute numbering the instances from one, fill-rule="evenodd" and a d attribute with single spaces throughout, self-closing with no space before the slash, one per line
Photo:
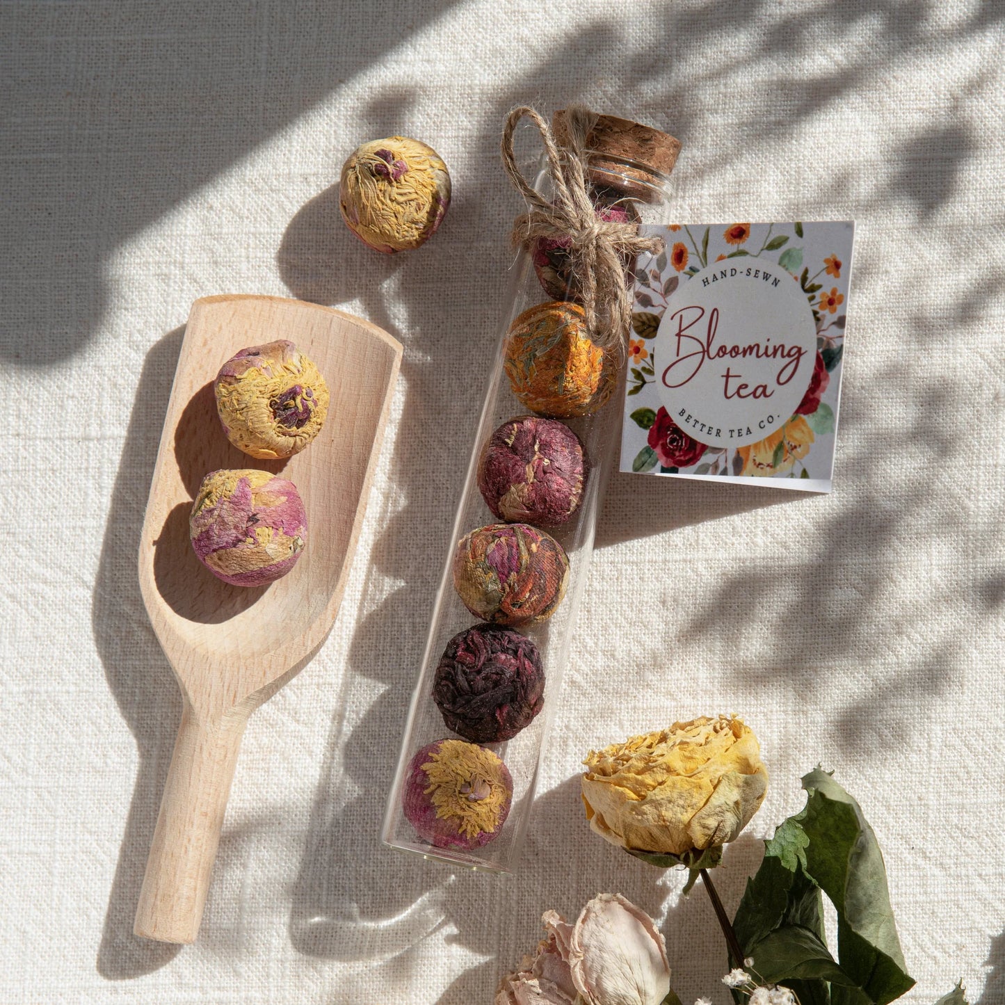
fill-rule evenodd
<path id="1" fill-rule="evenodd" d="M 520 415 L 481 451 L 478 488 L 499 520 L 556 527 L 579 507 L 585 473 L 583 444 L 568 426 Z"/>

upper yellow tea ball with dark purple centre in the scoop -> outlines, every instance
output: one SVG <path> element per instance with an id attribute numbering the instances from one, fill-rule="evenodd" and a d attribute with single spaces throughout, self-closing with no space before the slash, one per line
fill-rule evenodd
<path id="1" fill-rule="evenodd" d="M 232 356 L 216 375 L 213 390 L 227 439 L 252 457 L 298 453 L 328 414 L 325 378 L 284 339 Z"/>

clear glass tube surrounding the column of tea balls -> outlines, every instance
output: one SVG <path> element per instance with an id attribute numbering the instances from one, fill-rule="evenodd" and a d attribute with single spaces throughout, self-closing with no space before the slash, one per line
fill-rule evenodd
<path id="1" fill-rule="evenodd" d="M 637 219 L 639 223 L 663 222 L 658 217 L 667 194 L 668 179 L 664 175 L 655 172 L 648 165 L 613 156 L 607 151 L 590 151 L 588 164 L 591 197 L 598 210 L 603 206 L 617 205 L 627 210 L 629 219 Z M 547 183 L 547 172 L 543 171 L 536 187 L 546 195 Z M 630 273 L 632 264 L 626 263 L 626 272 Z M 630 279 L 631 275 L 627 274 L 626 282 Z M 391 847 L 426 858 L 492 872 L 514 871 L 527 832 L 535 785 L 547 752 L 552 720 L 559 705 L 562 676 L 569 659 L 569 646 L 576 628 L 580 598 L 593 552 L 597 512 L 618 442 L 624 400 L 622 389 L 625 353 L 607 354 L 604 365 L 613 371 L 610 379 L 614 381 L 614 391 L 607 402 L 591 415 L 561 420 L 582 442 L 588 473 L 581 502 L 572 517 L 560 527 L 543 528 L 563 546 L 569 557 L 566 596 L 548 620 L 514 626 L 514 630 L 529 636 L 540 651 L 545 670 L 544 707 L 533 722 L 513 739 L 482 745 L 502 760 L 513 778 L 513 803 L 505 824 L 492 840 L 473 850 L 434 847 L 416 833 L 405 817 L 402 789 L 408 776 L 409 764 L 419 750 L 439 740 L 458 739 L 444 724 L 432 698 L 436 667 L 447 642 L 457 632 L 479 623 L 479 619 L 461 603 L 454 590 L 451 574 L 454 550 L 457 542 L 469 531 L 499 522 L 481 496 L 477 471 L 482 448 L 492 432 L 508 420 L 529 414 L 528 407 L 514 394 L 504 369 L 509 333 L 514 320 L 523 312 L 553 299 L 555 297 L 539 281 L 531 253 L 522 251 L 513 266 L 510 310 L 502 319 L 501 332 L 491 361 L 488 388 L 443 565 L 443 575 L 433 605 L 429 636 L 412 696 L 401 756 L 381 835 L 383 841 Z"/>

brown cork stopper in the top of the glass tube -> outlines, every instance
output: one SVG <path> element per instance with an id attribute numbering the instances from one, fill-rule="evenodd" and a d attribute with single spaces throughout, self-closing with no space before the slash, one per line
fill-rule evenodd
<path id="1" fill-rule="evenodd" d="M 552 132 L 561 145 L 568 145 L 567 109 L 560 109 L 552 117 Z M 590 151 L 591 182 L 643 202 L 658 200 L 656 190 L 673 170 L 680 153 L 680 141 L 669 133 L 602 115 L 590 127 L 586 147 Z"/>

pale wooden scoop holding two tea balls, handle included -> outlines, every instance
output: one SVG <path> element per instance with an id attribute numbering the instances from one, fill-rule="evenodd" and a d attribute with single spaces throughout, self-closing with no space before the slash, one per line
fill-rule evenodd
<path id="1" fill-rule="evenodd" d="M 246 346 L 288 339 L 331 394 L 314 442 L 287 460 L 232 447 L 213 397 L 219 368 Z M 394 392 L 401 346 L 351 315 L 277 296 L 207 296 L 192 306 L 161 435 L 140 545 L 140 586 L 184 696 L 135 931 L 191 943 L 248 716 L 300 670 L 335 622 Z M 196 559 L 188 518 L 203 475 L 282 472 L 299 489 L 308 541 L 266 587 L 230 586 Z"/>

